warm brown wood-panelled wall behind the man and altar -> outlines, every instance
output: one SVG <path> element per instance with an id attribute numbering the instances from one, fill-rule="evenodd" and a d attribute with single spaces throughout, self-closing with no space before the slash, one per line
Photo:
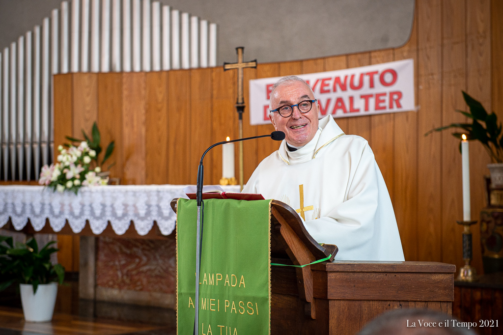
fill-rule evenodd
<path id="1" fill-rule="evenodd" d="M 348 134 L 366 138 L 391 195 L 407 261 L 462 265 L 461 155 L 448 132 L 424 134 L 462 121 L 461 90 L 503 119 L 503 2 L 417 0 L 413 29 L 402 47 L 303 61 L 259 64 L 248 80 L 414 59 L 417 111 L 337 119 Z M 260 61 L 260 60 L 259 60 Z M 222 67 L 150 73 L 77 73 L 54 77 L 55 144 L 80 136 L 98 120 L 104 143 L 114 139 L 113 177 L 123 184 L 195 184 L 203 151 L 237 137 L 235 71 Z M 247 112 L 247 111 L 246 111 Z M 250 126 L 244 136 L 267 134 Z M 244 180 L 277 149 L 261 139 L 244 143 Z M 472 218 L 485 206 L 482 178 L 489 157 L 470 144 Z M 205 184 L 221 177 L 221 147 L 205 158 Z M 236 155 L 237 157 L 237 155 Z M 236 166 L 238 166 L 236 161 Z M 478 225 L 472 227 L 474 261 L 482 271 Z"/>

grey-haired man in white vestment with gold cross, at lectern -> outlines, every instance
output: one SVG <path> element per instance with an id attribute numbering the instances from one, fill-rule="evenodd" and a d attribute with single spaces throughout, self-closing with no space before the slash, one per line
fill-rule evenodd
<path id="1" fill-rule="evenodd" d="M 403 261 L 388 189 L 368 142 L 346 135 L 331 115 L 318 121 L 314 93 L 299 77 L 273 86 L 269 118 L 285 133 L 244 193 L 294 208 L 319 243 L 336 244 L 336 260 Z"/>

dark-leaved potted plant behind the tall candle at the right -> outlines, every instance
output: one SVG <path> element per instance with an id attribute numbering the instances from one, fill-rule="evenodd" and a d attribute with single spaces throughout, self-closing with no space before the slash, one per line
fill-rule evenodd
<path id="1" fill-rule="evenodd" d="M 492 160 L 491 164 L 487 164 L 491 174 L 492 186 L 503 187 L 503 134 L 501 133 L 501 122 L 498 123 L 494 112 L 487 113 L 480 102 L 470 97 L 466 92 L 462 92 L 470 111 L 456 110 L 456 112 L 471 119 L 471 123 L 451 123 L 448 126 L 432 129 L 425 136 L 434 131 L 453 128 L 455 132 L 452 134 L 459 139 L 465 134 L 468 140 L 478 140 Z"/>

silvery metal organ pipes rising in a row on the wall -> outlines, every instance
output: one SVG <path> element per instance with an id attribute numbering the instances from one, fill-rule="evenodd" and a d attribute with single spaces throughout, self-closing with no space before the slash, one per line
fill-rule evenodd
<path id="1" fill-rule="evenodd" d="M 151 0 L 70 0 L 0 50 L 0 180 L 54 157 L 52 75 L 216 66 L 217 27 Z"/>

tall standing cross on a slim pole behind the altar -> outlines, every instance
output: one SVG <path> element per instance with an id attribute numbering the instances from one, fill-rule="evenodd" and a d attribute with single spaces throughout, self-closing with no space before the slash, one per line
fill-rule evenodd
<path id="1" fill-rule="evenodd" d="M 239 138 L 243 138 L 243 113 L 244 113 L 244 99 L 243 99 L 243 69 L 246 67 L 257 67 L 257 59 L 250 62 L 243 62 L 244 47 L 237 47 L 237 62 L 236 63 L 223 63 L 223 70 L 237 69 L 237 101 L 236 111 L 239 116 Z M 243 142 L 239 142 L 239 185 L 243 189 Z"/>

